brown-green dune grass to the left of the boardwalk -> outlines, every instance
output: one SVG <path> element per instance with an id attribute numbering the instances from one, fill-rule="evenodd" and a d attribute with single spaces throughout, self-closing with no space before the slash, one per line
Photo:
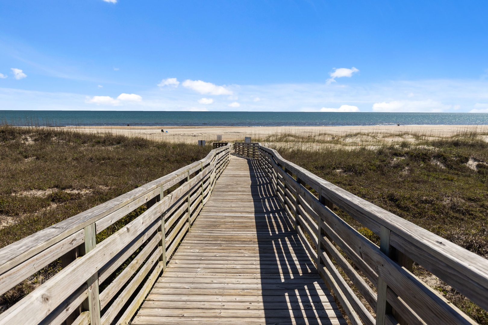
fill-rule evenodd
<path id="1" fill-rule="evenodd" d="M 202 159 L 211 146 L 0 125 L 0 248 Z M 97 235 L 122 228 L 144 207 Z M 0 312 L 61 270 L 51 263 L 0 296 Z M 107 281 L 109 283 L 109 281 Z"/>

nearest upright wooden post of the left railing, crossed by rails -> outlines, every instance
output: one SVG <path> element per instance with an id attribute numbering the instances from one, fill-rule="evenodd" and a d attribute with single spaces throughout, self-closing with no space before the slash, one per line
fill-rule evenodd
<path id="1" fill-rule="evenodd" d="M 97 246 L 97 229 L 95 223 L 85 227 L 85 245 L 81 245 L 81 255 L 85 255 Z M 98 288 L 98 271 L 86 281 L 88 299 L 83 304 L 83 310 L 90 312 L 90 324 L 100 325 L 100 296 Z"/>

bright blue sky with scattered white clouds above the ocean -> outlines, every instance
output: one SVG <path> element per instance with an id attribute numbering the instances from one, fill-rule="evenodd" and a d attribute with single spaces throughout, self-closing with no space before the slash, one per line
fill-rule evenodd
<path id="1" fill-rule="evenodd" d="M 0 16 L 0 110 L 488 112 L 487 1 L 0 0 Z"/>

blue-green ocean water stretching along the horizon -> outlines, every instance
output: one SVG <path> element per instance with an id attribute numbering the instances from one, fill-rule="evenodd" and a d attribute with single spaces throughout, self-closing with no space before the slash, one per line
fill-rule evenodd
<path id="1" fill-rule="evenodd" d="M 0 123 L 41 126 L 488 125 L 486 113 L 0 111 Z"/>

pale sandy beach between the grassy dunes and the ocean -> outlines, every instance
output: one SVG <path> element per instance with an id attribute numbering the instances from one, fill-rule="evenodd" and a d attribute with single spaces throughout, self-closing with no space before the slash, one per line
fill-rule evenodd
<path id="1" fill-rule="evenodd" d="M 488 134 L 487 125 L 406 125 L 406 126 L 286 126 L 286 127 L 228 127 L 228 126 L 79 126 L 68 127 L 73 131 L 88 133 L 112 133 L 141 136 L 157 141 L 197 143 L 198 140 L 215 141 L 222 135 L 223 141 L 244 141 L 245 136 L 254 140 L 271 140 L 273 137 L 336 139 L 344 142 L 410 141 L 418 136 L 444 138 L 455 134 Z M 161 132 L 164 130 L 164 132 Z M 167 131 L 167 133 L 166 133 Z M 366 144 L 366 143 L 365 143 Z"/>

